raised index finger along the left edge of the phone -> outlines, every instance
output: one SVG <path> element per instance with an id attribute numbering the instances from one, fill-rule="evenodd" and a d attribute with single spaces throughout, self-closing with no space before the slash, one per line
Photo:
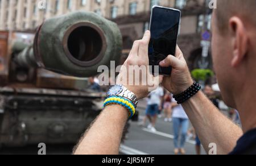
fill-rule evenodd
<path id="1" fill-rule="evenodd" d="M 148 44 L 150 43 L 150 31 L 146 31 L 139 44 L 139 57 L 148 58 Z"/>

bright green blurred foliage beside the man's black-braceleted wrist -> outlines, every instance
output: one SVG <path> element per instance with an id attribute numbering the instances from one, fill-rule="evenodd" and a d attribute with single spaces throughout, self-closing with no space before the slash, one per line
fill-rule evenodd
<path id="1" fill-rule="evenodd" d="M 214 76 L 213 71 L 210 69 L 195 69 L 192 70 L 191 74 L 196 81 L 206 81 L 210 77 Z"/>

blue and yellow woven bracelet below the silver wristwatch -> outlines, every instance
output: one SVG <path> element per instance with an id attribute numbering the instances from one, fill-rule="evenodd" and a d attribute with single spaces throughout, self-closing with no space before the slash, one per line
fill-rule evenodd
<path id="1" fill-rule="evenodd" d="M 129 118 L 133 117 L 135 114 L 135 106 L 129 99 L 118 97 L 118 96 L 112 96 L 105 100 L 104 107 L 112 104 L 117 104 L 125 107 L 127 110 L 129 110 Z"/>

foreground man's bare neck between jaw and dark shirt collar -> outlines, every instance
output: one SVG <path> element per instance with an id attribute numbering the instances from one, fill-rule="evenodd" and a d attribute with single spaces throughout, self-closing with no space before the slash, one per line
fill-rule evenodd
<path id="1" fill-rule="evenodd" d="M 252 83 L 245 85 L 240 94 L 237 94 L 239 97 L 237 97 L 236 105 L 244 133 L 256 128 L 256 92 Z"/>

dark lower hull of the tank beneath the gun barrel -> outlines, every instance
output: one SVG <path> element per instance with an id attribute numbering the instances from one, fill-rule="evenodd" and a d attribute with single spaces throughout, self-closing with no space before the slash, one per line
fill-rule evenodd
<path id="1" fill-rule="evenodd" d="M 104 94 L 52 89 L 0 90 L 0 144 L 76 143 L 100 114 Z"/>

